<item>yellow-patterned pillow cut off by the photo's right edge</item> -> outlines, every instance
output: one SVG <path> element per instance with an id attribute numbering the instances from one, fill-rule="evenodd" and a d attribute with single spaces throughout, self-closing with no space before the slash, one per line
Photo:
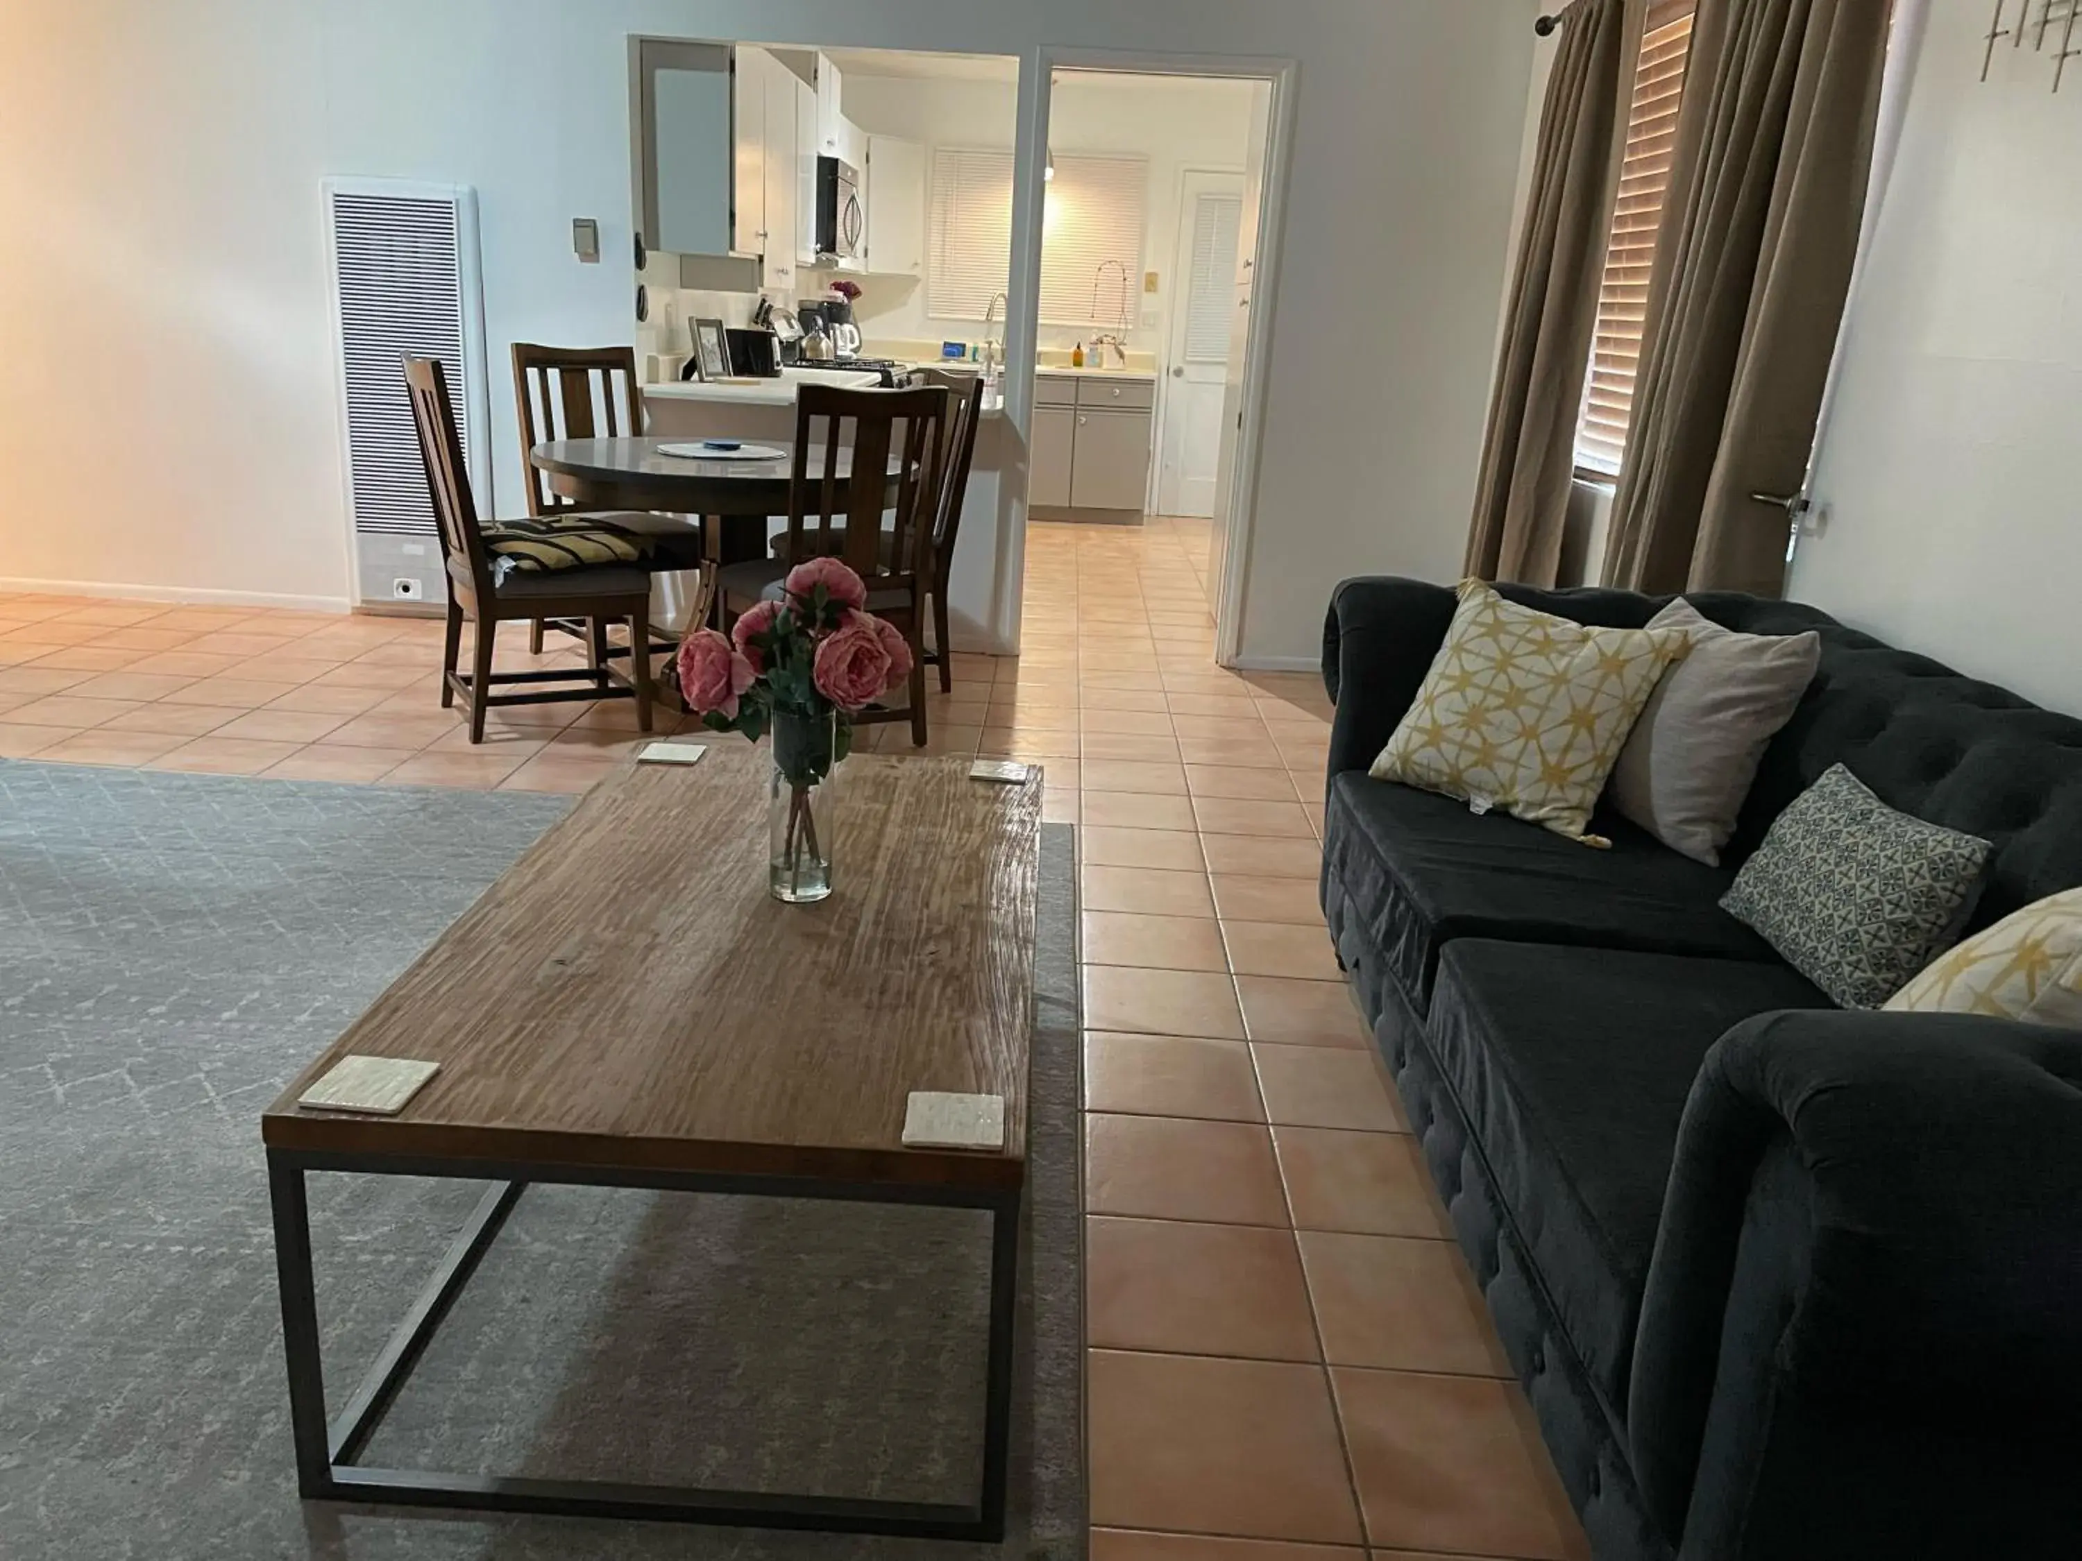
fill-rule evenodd
<path id="1" fill-rule="evenodd" d="M 1940 953 L 1886 1007 L 2082 1030 L 2082 889 L 2047 895 Z"/>

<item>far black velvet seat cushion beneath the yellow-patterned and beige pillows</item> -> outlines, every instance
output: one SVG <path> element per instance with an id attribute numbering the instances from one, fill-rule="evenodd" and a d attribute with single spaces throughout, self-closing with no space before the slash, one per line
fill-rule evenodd
<path id="1" fill-rule="evenodd" d="M 1609 851 L 1347 770 L 1330 783 L 1324 872 L 1339 874 L 1418 1014 L 1453 939 L 1776 962 L 1718 903 L 1732 872 L 1682 858 L 1622 818 L 1595 828 Z"/>

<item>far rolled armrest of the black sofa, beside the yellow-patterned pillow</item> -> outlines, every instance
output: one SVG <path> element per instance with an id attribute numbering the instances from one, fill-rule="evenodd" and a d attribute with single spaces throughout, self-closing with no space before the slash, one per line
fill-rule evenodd
<path id="1" fill-rule="evenodd" d="M 1366 770 L 1418 697 L 1447 624 L 1453 589 L 1393 574 L 1351 579 L 1330 593 L 1322 685 L 1337 703 L 1330 774 Z"/>

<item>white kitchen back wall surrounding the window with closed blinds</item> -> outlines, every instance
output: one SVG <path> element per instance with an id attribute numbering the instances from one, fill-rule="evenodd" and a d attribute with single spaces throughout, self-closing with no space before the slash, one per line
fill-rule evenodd
<path id="1" fill-rule="evenodd" d="M 1016 87 L 999 81 L 918 81 L 847 73 L 845 117 L 872 135 L 899 135 L 926 148 L 1012 148 Z M 1164 77 L 1066 75 L 1056 85 L 1049 144 L 1058 154 L 1093 152 L 1149 160 L 1145 191 L 1143 262 L 1160 273 L 1162 291 L 1141 291 L 1133 279 L 1128 348 L 1164 356 L 1170 337 L 1174 258 L 1178 246 L 1178 189 L 1185 169 L 1243 171 L 1251 129 L 1249 81 L 1195 81 Z M 868 189 L 874 200 L 874 189 Z M 1101 310 L 1114 300 L 1112 283 Z M 974 341 L 976 321 L 937 318 L 926 310 L 926 283 L 870 277 L 860 300 L 862 325 L 891 339 Z M 1043 348 L 1089 341 L 1095 327 L 1043 325 Z"/>

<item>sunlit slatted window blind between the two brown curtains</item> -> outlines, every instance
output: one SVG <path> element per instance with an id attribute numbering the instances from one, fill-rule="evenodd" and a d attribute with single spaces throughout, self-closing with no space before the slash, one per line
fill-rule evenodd
<path id="1" fill-rule="evenodd" d="M 1641 366 L 1641 335 L 1649 312 L 1649 275 L 1655 268 L 1655 231 L 1664 219 L 1678 102 L 1684 96 L 1693 17 L 1691 6 L 1664 19 L 1668 10 L 1674 6 L 1649 12 L 1649 31 L 1641 40 L 1620 196 L 1605 250 L 1605 279 L 1597 293 L 1597 341 L 1591 350 L 1582 420 L 1576 425 L 1576 466 L 1597 477 L 1618 477 L 1626 456 L 1634 373 Z"/>

